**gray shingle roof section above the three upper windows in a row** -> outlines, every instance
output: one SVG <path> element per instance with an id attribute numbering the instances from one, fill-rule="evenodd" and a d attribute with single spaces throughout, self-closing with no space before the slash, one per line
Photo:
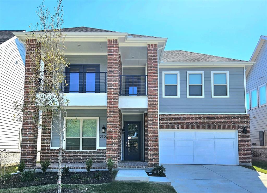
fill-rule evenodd
<path id="1" fill-rule="evenodd" d="M 246 62 L 232 58 L 224 58 L 183 50 L 164 51 L 161 62 Z"/>

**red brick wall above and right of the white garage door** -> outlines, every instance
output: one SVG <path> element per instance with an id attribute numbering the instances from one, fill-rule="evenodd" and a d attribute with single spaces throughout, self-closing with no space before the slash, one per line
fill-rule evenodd
<path id="1" fill-rule="evenodd" d="M 239 164 L 251 164 L 249 115 L 160 114 L 159 124 L 160 129 L 237 129 Z"/>

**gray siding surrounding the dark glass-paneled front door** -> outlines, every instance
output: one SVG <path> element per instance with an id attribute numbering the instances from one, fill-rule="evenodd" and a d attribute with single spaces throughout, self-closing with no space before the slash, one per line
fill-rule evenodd
<path id="1" fill-rule="evenodd" d="M 122 115 L 122 126 L 125 121 L 141 121 L 141 160 L 144 160 L 144 115 Z M 124 135 L 122 136 L 122 160 L 124 160 Z"/>

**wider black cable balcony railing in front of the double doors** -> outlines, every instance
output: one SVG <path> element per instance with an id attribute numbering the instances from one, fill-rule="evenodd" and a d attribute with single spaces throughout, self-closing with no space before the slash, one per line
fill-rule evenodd
<path id="1" fill-rule="evenodd" d="M 107 72 L 63 72 L 66 84 L 60 85 L 64 93 L 107 93 Z M 44 88 L 44 72 L 40 73 L 40 92 Z"/>

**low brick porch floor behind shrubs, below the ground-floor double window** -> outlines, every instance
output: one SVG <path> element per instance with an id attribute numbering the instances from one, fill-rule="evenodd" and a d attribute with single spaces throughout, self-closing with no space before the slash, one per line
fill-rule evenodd
<path id="1" fill-rule="evenodd" d="M 86 169 L 85 168 L 85 163 L 62 163 L 61 164 L 61 168 L 63 168 L 64 166 L 69 166 L 70 169 Z M 106 169 L 106 163 L 93 163 L 92 169 Z M 34 167 L 33 169 L 41 169 L 41 165 L 40 163 L 36 164 L 36 167 Z M 53 163 L 51 164 L 48 169 L 58 169 L 58 163 Z"/>

